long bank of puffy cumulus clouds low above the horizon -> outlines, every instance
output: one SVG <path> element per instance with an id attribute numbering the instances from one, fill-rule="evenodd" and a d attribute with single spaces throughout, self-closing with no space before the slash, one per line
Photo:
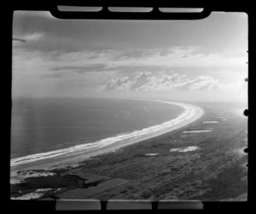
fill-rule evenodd
<path id="1" fill-rule="evenodd" d="M 135 91 L 162 91 L 162 90 L 237 90 L 241 84 L 220 84 L 211 76 L 188 78 L 186 75 L 172 73 L 167 76 L 157 76 L 152 72 L 138 72 L 137 76 L 113 78 L 107 84 L 97 89 L 135 90 Z"/>

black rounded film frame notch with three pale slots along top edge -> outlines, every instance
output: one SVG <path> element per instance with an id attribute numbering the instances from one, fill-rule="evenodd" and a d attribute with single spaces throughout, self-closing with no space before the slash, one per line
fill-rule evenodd
<path id="1" fill-rule="evenodd" d="M 171 7 L 115 7 L 55 5 L 49 12 L 58 19 L 96 20 L 200 20 L 207 18 L 211 10 L 207 8 Z"/>

